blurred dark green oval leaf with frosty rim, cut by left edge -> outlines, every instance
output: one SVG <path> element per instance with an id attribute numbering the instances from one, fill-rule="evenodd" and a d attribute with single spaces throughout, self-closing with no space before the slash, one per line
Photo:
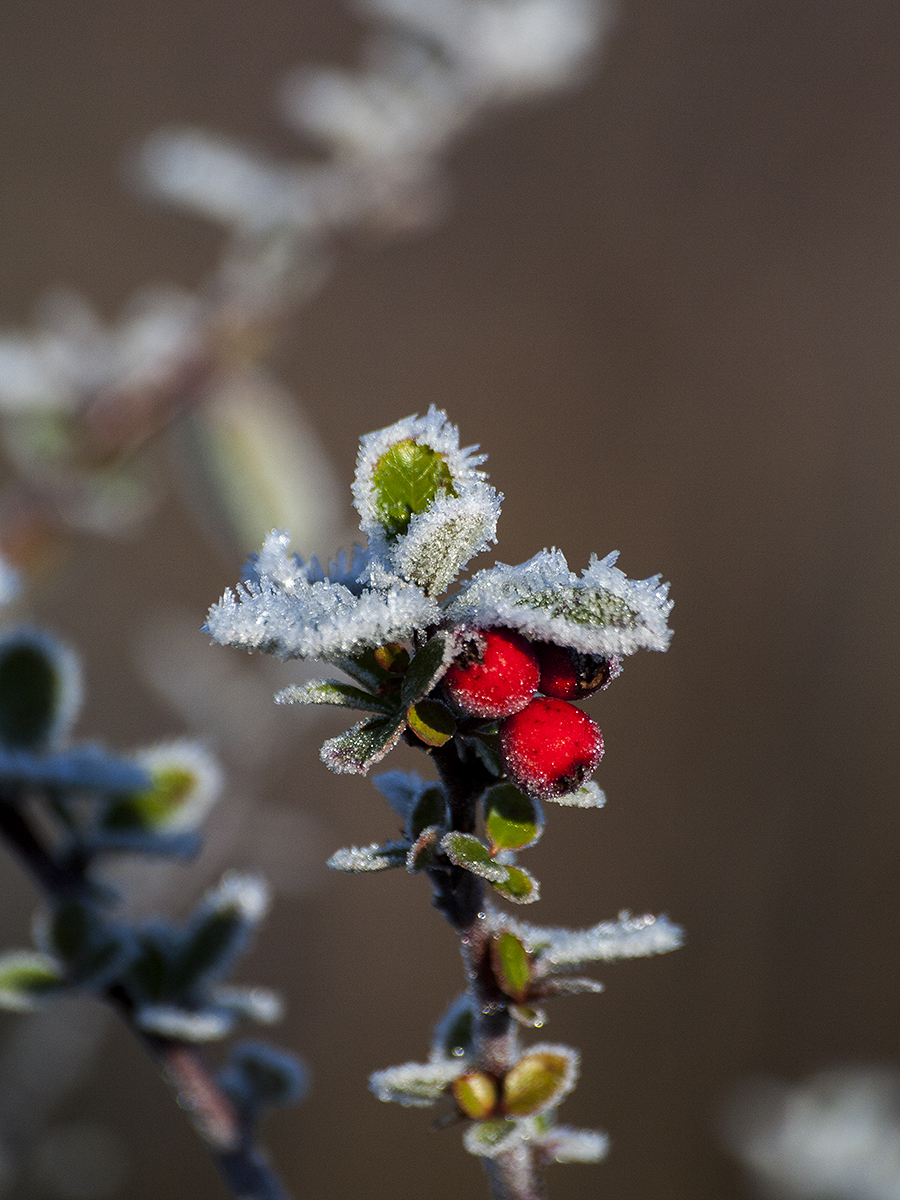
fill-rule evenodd
<path id="1" fill-rule="evenodd" d="M 43 750 L 74 715 L 80 685 L 74 656 L 54 638 L 14 630 L 0 641 L 0 742 Z"/>

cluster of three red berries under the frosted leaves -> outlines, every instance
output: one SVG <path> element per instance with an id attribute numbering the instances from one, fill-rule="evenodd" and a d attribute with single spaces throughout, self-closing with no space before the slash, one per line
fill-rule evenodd
<path id="1" fill-rule="evenodd" d="M 529 796 L 552 799 L 580 787 L 604 754 L 599 726 L 569 701 L 606 686 L 617 666 L 510 629 L 485 629 L 450 666 L 444 690 L 463 713 L 500 720 L 506 775 Z"/>

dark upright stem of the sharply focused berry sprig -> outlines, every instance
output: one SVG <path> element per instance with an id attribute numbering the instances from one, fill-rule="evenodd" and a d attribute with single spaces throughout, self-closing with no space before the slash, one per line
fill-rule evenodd
<path id="1" fill-rule="evenodd" d="M 463 760 L 454 740 L 431 751 L 446 793 L 450 828 L 475 832 L 478 799 L 494 782 L 480 760 Z M 485 881 L 450 864 L 428 872 L 433 904 L 460 936 L 473 1013 L 474 1067 L 502 1079 L 520 1057 L 518 1026 L 491 964 L 493 930 L 485 908 Z M 482 1159 L 492 1200 L 544 1200 L 536 1154 L 527 1144 Z"/>

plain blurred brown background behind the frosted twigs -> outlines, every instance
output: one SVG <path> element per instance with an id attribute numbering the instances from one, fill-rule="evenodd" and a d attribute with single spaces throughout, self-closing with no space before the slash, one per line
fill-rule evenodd
<path id="1" fill-rule="evenodd" d="M 278 79 L 353 65 L 361 30 L 322 0 L 7 5 L 0 323 L 28 326 L 60 283 L 104 319 L 145 283 L 196 288 L 221 232 L 136 198 L 124 157 L 170 122 L 295 155 Z M 580 89 L 454 149 L 433 229 L 342 240 L 272 360 L 338 481 L 326 540 L 296 548 L 349 546 L 358 437 L 433 403 L 505 494 L 493 557 L 559 546 L 580 570 L 618 548 L 629 576 L 672 581 L 670 653 L 588 706 L 607 808 L 553 810 L 528 857 L 528 919 L 630 908 L 688 931 L 602 971 L 602 996 L 553 1002 L 546 1036 L 583 1052 L 563 1116 L 612 1138 L 607 1163 L 553 1169 L 553 1200 L 749 1196 L 720 1135 L 743 1080 L 900 1066 L 899 61 L 889 0 L 623 0 Z M 28 598 L 84 658 L 80 734 L 223 751 L 210 848 L 143 894 L 179 912 L 228 864 L 270 875 L 244 974 L 283 992 L 274 1038 L 312 1072 L 265 1130 L 298 1196 L 479 1194 L 458 1130 L 365 1086 L 426 1054 L 462 983 L 454 937 L 424 881 L 324 869 L 395 818 L 320 764 L 338 716 L 269 710 L 296 664 L 206 647 L 208 606 L 257 547 L 210 540 L 169 450 L 148 454 L 162 498 L 139 529 L 72 534 Z M 390 766 L 421 766 L 404 752 Z M 1 881 L 0 942 L 24 944 L 34 893 L 12 862 Z M 95 1009 L 4 1015 L 0 1067 L 0 1117 L 29 1147 L 7 1194 L 220 1194 Z"/>

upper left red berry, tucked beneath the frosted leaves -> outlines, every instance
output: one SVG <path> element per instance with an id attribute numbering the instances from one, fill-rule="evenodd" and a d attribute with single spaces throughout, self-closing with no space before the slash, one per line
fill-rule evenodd
<path id="1" fill-rule="evenodd" d="M 479 630 L 444 676 L 452 702 L 472 716 L 509 716 L 538 690 L 532 643 L 511 629 Z"/>

